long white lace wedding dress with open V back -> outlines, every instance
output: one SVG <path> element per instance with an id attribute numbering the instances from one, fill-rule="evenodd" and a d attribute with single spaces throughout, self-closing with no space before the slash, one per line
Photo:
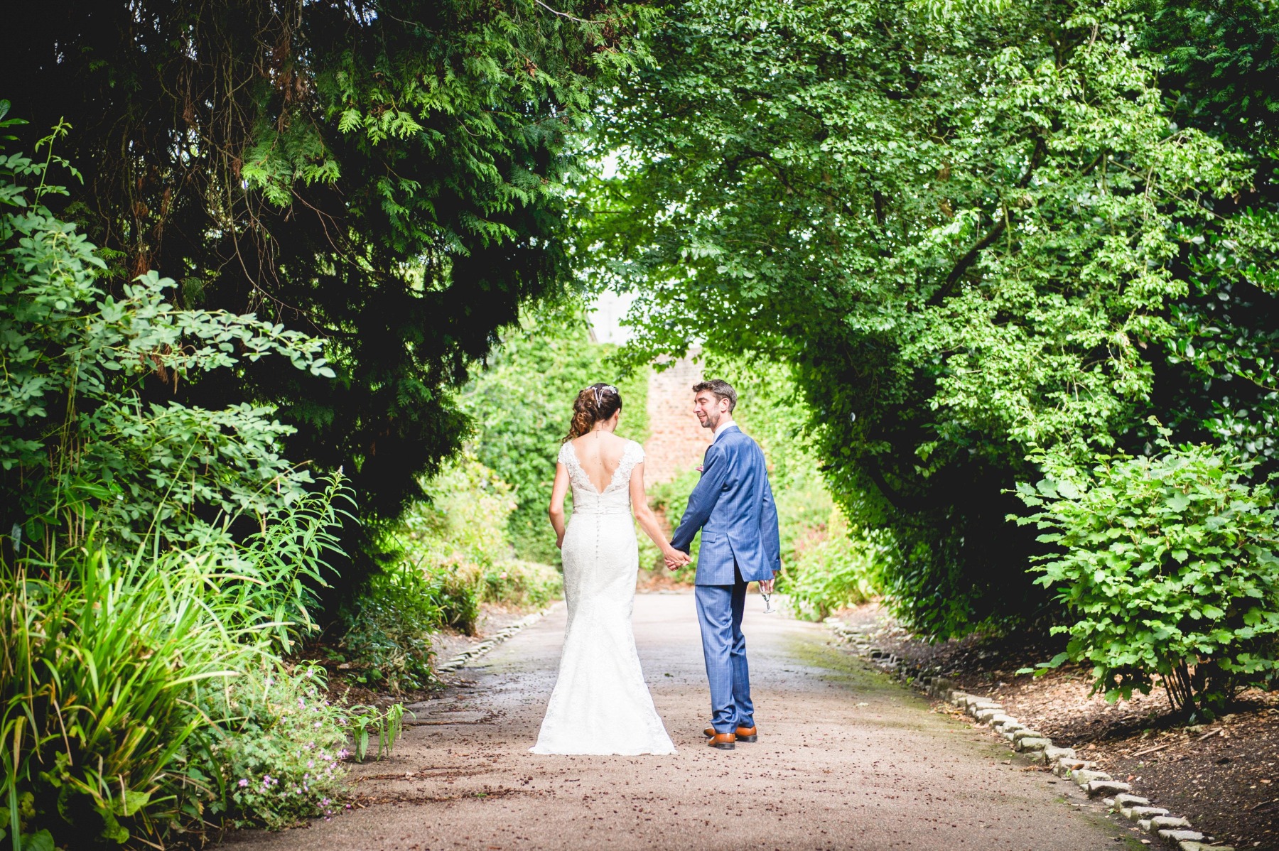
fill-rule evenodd
<path id="1" fill-rule="evenodd" d="M 640 552 L 629 482 L 643 448 L 627 441 L 622 463 L 602 492 L 582 469 L 573 443 L 564 443 L 559 460 L 573 487 L 573 515 L 563 547 L 568 627 L 559 680 L 537 745 L 530 750 L 674 754 L 645 685 L 631 629 Z"/>

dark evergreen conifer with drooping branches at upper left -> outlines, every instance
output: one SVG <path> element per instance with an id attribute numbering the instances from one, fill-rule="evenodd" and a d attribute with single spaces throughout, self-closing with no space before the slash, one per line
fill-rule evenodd
<path id="1" fill-rule="evenodd" d="M 162 270 L 183 307 L 320 334 L 338 374 L 247 363 L 175 401 L 279 405 L 283 454 L 343 468 L 361 516 L 393 520 L 462 443 L 468 365 L 568 279 L 577 135 L 648 17 L 631 0 L 18 10 L 0 77 L 36 126 L 75 128 L 67 215 L 113 273 Z M 350 588 L 381 538 L 345 534 Z"/>

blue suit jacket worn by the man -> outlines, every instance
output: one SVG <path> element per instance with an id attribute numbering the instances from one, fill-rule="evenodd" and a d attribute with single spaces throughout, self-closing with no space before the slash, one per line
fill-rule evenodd
<path id="1" fill-rule="evenodd" d="M 702 478 L 670 544 L 688 552 L 698 529 L 698 585 L 732 585 L 734 564 L 748 583 L 773 579 L 781 570 L 778 506 L 764 451 L 737 425 L 725 428 L 706 448 Z"/>

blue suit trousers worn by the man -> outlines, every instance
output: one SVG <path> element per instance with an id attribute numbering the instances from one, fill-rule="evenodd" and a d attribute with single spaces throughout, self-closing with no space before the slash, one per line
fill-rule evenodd
<path id="1" fill-rule="evenodd" d="M 706 678 L 711 685 L 711 726 L 715 732 L 732 732 L 755 726 L 751 703 L 751 673 L 746 664 L 746 585 L 734 567 L 732 585 L 697 585 L 697 620 L 702 627 L 702 654 Z"/>

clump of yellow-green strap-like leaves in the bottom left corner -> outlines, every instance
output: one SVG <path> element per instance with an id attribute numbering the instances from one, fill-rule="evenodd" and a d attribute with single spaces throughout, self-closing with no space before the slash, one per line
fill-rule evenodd
<path id="1" fill-rule="evenodd" d="M 226 626 L 214 565 L 102 549 L 0 574 L 0 764 L 10 831 L 124 842 L 162 833 L 211 774 L 191 760 L 192 710 L 256 656 Z M 244 627 L 262 630 L 262 625 Z"/>

